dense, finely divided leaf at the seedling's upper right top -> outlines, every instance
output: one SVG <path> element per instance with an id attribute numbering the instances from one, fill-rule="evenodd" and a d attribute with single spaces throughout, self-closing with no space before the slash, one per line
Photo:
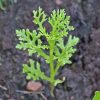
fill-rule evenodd
<path id="1" fill-rule="evenodd" d="M 59 40 L 68 35 L 68 31 L 74 30 L 73 26 L 70 26 L 70 16 L 66 16 L 65 10 L 53 10 L 51 16 L 48 18 L 48 22 L 52 26 L 51 37 L 54 40 Z"/>

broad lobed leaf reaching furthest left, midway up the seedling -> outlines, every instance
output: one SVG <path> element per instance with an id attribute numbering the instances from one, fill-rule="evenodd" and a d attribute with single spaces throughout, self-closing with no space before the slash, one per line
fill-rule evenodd
<path id="1" fill-rule="evenodd" d="M 35 30 L 32 32 L 29 29 L 22 29 L 16 31 L 17 36 L 19 37 L 19 44 L 16 48 L 28 50 L 29 55 L 31 56 L 34 53 L 38 53 L 39 56 L 44 57 L 48 60 L 48 55 L 44 53 L 43 49 L 48 49 L 48 45 L 42 45 L 40 40 L 40 35 L 37 34 Z"/>

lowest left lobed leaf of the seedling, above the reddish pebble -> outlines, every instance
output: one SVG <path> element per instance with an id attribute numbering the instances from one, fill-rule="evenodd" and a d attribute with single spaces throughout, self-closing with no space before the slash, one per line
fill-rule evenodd
<path id="1" fill-rule="evenodd" d="M 29 60 L 29 66 L 27 64 L 23 64 L 23 73 L 27 74 L 27 79 L 32 80 L 48 80 L 48 77 L 44 74 L 44 72 L 40 69 L 40 64 L 33 60 Z"/>

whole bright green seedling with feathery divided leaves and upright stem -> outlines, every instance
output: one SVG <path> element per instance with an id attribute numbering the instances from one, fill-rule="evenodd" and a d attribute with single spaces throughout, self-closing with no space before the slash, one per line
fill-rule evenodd
<path id="1" fill-rule="evenodd" d="M 51 16 L 47 17 L 39 7 L 37 11 L 33 11 L 33 17 L 33 22 L 38 26 L 37 30 L 16 30 L 20 40 L 16 48 L 28 50 L 30 56 L 35 53 L 43 57 L 46 63 L 50 65 L 50 75 L 47 76 L 45 72 L 41 71 L 40 63 L 30 59 L 29 65 L 23 64 L 23 73 L 27 74 L 27 79 L 48 81 L 51 86 L 51 93 L 53 93 L 54 87 L 64 81 L 64 79 L 60 80 L 55 76 L 59 68 L 71 63 L 70 58 L 76 51 L 74 46 L 78 43 L 79 38 L 68 33 L 74 28 L 69 25 L 70 16 L 66 16 L 64 9 L 53 10 Z M 46 21 L 52 27 L 50 32 L 47 32 L 43 26 Z M 42 42 L 41 37 L 46 39 L 46 44 Z M 68 38 L 66 43 L 64 37 Z"/>

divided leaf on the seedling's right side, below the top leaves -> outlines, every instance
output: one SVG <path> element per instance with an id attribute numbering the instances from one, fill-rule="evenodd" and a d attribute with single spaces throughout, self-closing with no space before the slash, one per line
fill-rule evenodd
<path id="1" fill-rule="evenodd" d="M 74 46 L 79 42 L 79 38 L 73 37 L 69 35 L 68 41 L 66 45 L 64 45 L 64 40 L 60 39 L 57 43 L 57 47 L 55 48 L 55 56 L 58 59 L 59 66 L 63 66 L 65 64 L 70 64 L 70 58 L 72 57 L 73 53 L 75 53 L 76 49 Z"/>

